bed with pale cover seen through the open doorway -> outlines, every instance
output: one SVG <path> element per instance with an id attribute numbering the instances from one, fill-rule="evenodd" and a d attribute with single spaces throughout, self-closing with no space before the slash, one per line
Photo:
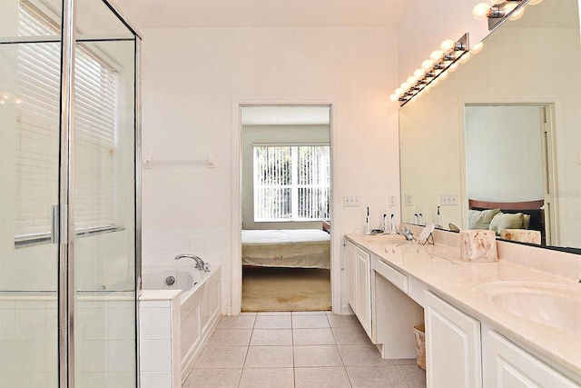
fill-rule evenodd
<path id="1" fill-rule="evenodd" d="M 330 234 L 320 229 L 243 230 L 242 265 L 330 268 Z"/>

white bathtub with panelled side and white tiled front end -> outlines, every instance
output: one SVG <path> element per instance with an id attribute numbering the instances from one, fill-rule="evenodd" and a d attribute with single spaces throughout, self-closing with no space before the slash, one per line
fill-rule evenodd
<path id="1" fill-rule="evenodd" d="M 221 268 L 144 267 L 140 296 L 143 388 L 181 386 L 220 317 Z M 175 284 L 166 285 L 172 275 Z M 181 288 L 178 288 L 181 287 Z"/>

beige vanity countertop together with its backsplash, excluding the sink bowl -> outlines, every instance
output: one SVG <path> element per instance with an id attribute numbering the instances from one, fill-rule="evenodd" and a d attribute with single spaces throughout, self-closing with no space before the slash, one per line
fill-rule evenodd
<path id="1" fill-rule="evenodd" d="M 410 284 L 415 284 L 410 285 L 409 296 L 420 305 L 424 305 L 424 290 L 436 293 L 581 383 L 580 331 L 558 330 L 506 313 L 482 291 L 484 284 L 503 281 L 563 284 L 579 287 L 581 298 L 578 255 L 498 242 L 498 262 L 468 263 L 460 259 L 458 234 L 436 231 L 435 245 L 409 243 L 401 236 L 350 234 L 346 238 L 408 275 Z M 581 312 L 571 313 L 581 317 Z"/>

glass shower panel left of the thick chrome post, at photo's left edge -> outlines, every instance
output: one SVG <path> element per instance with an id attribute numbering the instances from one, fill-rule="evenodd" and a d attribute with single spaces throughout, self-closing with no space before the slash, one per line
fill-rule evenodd
<path id="1" fill-rule="evenodd" d="M 60 35 L 0 8 L 0 386 L 56 387 Z"/>

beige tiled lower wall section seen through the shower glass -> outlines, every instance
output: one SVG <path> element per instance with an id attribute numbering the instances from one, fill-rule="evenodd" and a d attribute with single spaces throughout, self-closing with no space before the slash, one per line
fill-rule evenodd
<path id="1" fill-rule="evenodd" d="M 56 309 L 55 293 L 0 293 L 1 387 L 58 386 Z M 75 311 L 79 386 L 132 386 L 134 293 L 84 292 L 76 298 Z"/>

